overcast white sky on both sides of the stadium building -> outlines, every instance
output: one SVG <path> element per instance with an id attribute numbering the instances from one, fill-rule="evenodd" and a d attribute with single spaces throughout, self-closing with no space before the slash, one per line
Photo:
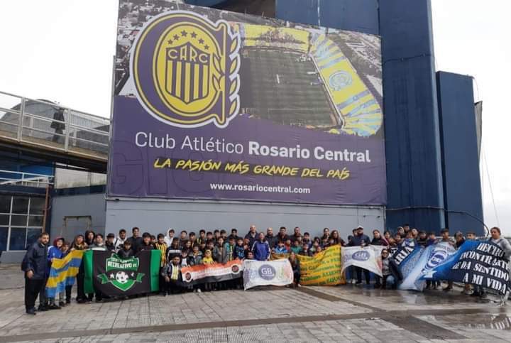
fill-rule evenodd
<path id="1" fill-rule="evenodd" d="M 484 104 L 485 222 L 511 235 L 511 1 L 432 1 L 437 70 L 475 77 Z M 117 2 L 2 1 L 0 90 L 109 116 Z"/>

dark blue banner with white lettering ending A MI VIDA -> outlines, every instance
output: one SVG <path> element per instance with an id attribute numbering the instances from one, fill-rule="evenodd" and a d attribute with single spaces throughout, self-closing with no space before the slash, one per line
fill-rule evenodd
<path id="1" fill-rule="evenodd" d="M 490 241 L 465 241 L 424 275 L 426 279 L 471 283 L 504 295 L 510 288 L 510 263 L 505 251 Z"/>

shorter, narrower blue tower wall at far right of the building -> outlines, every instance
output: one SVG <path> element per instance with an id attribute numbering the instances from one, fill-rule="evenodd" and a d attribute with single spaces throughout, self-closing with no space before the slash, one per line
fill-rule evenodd
<path id="1" fill-rule="evenodd" d="M 451 232 L 475 231 L 482 235 L 483 204 L 472 78 L 437 72 L 436 82 L 440 102 L 444 198 L 448 210 L 446 224 Z"/>

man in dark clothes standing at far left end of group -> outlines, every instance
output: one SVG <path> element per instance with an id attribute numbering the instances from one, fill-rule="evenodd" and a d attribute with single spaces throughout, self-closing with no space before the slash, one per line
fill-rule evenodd
<path id="1" fill-rule="evenodd" d="M 39 310 L 47 310 L 45 306 L 45 285 L 48 241 L 50 235 L 43 232 L 23 257 L 21 269 L 25 272 L 25 310 L 28 315 L 35 315 L 35 299 L 39 295 Z"/>

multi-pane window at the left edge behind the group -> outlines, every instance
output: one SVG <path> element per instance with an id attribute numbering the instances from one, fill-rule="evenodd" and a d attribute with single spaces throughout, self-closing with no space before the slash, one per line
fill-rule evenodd
<path id="1" fill-rule="evenodd" d="M 25 250 L 43 230 L 45 198 L 0 195 L 0 251 Z"/>

